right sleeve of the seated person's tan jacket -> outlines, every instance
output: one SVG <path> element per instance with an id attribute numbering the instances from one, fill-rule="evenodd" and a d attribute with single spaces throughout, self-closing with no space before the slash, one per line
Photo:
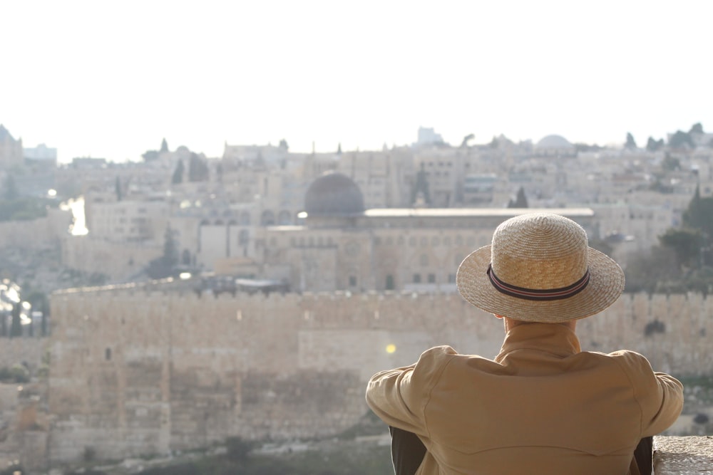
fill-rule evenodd
<path id="1" fill-rule="evenodd" d="M 633 351 L 611 353 L 627 373 L 641 408 L 641 437 L 660 434 L 676 422 L 683 409 L 683 385 L 664 372 L 655 372 L 649 361 Z"/>

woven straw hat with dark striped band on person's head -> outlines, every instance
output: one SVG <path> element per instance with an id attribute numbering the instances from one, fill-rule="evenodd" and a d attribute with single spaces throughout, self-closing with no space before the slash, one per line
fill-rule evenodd
<path id="1" fill-rule="evenodd" d="M 530 213 L 504 221 L 490 246 L 463 259 L 456 283 L 466 301 L 487 312 L 556 323 L 610 306 L 624 290 L 624 272 L 589 247 L 575 221 Z"/>

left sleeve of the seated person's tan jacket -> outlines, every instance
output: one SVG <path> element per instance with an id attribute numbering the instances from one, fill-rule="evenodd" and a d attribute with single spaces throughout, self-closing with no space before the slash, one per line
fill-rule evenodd
<path id="1" fill-rule="evenodd" d="M 386 424 L 429 437 L 424 410 L 452 355 L 453 348 L 438 346 L 414 365 L 376 373 L 366 386 L 366 404 Z"/>

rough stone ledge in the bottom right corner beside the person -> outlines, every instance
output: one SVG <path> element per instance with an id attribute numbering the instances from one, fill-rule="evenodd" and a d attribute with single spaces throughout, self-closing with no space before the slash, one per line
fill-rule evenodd
<path id="1" fill-rule="evenodd" d="M 713 475 L 713 436 L 654 437 L 655 475 Z"/>

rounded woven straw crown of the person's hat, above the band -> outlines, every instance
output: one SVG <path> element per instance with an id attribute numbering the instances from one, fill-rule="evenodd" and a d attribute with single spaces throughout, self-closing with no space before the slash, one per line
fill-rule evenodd
<path id="1" fill-rule="evenodd" d="M 491 265 L 498 279 L 510 286 L 564 288 L 587 272 L 587 233 L 557 214 L 516 216 L 493 234 Z"/>

